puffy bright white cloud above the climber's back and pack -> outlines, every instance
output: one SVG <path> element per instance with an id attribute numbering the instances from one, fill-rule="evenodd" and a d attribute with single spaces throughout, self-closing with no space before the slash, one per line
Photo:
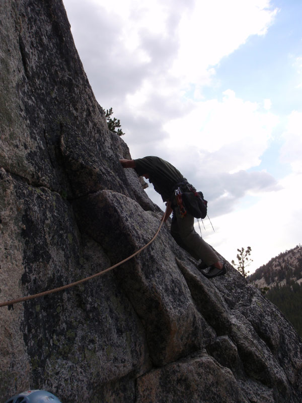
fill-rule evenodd
<path id="1" fill-rule="evenodd" d="M 223 99 L 198 102 L 194 109 L 164 126 L 163 148 L 202 166 L 203 172 L 236 172 L 259 165 L 277 116 L 227 90 Z M 192 158 L 190 158 L 192 156 Z"/>

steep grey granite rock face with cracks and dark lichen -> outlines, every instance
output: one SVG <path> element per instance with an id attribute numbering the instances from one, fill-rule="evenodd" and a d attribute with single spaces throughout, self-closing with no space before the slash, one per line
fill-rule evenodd
<path id="1" fill-rule="evenodd" d="M 0 3 L 0 301 L 98 273 L 163 212 L 108 130 L 60 0 Z M 63 403 L 302 401 L 302 345 L 228 265 L 204 278 L 173 240 L 65 292 L 0 308 L 0 394 Z"/>

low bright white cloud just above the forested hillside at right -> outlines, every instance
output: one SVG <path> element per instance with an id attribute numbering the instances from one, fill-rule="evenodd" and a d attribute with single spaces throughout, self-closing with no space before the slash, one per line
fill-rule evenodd
<path id="1" fill-rule="evenodd" d="M 207 226 L 205 240 L 229 261 L 236 258 L 237 247 L 251 246 L 251 271 L 255 271 L 302 239 L 301 226 L 297 225 L 301 215 L 297 183 L 301 182 L 301 174 L 289 175 L 280 182 L 282 189 L 259 194 L 257 203 L 247 209 L 238 206 L 232 214 L 212 219 L 216 232 Z"/>

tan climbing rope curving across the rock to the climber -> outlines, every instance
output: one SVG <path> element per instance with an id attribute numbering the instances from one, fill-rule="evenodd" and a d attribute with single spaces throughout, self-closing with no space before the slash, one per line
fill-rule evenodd
<path id="1" fill-rule="evenodd" d="M 6 301 L 6 302 L 1 302 L 0 303 L 0 308 L 3 307 L 3 306 L 14 305 L 14 304 L 17 304 L 18 302 L 24 302 L 24 301 L 28 301 L 30 299 L 43 297 L 44 295 L 49 295 L 49 294 L 56 293 L 58 291 L 66 290 L 67 288 L 71 288 L 71 287 L 77 286 L 79 284 L 82 284 L 82 283 L 84 283 L 84 282 L 86 282 L 88 280 L 94 279 L 94 278 L 96 278 L 98 276 L 101 276 L 101 275 L 109 272 L 110 270 L 112 270 L 113 268 L 115 268 L 117 266 L 120 266 L 121 264 L 125 263 L 126 261 L 132 259 L 132 257 L 136 256 L 138 253 L 140 253 L 143 249 L 145 249 L 147 246 L 149 246 L 155 240 L 155 238 L 158 236 L 158 234 L 159 234 L 159 232 L 160 232 L 160 230 L 161 230 L 161 228 L 162 228 L 162 226 L 163 226 L 163 224 L 165 222 L 167 211 L 168 211 L 168 206 L 166 208 L 165 214 L 164 214 L 164 216 L 162 218 L 161 224 L 160 224 L 159 229 L 157 230 L 155 236 L 148 243 L 146 243 L 144 246 L 142 246 L 140 249 L 138 249 L 136 252 L 134 252 L 131 256 L 126 257 L 124 260 L 114 264 L 111 267 L 106 268 L 105 270 L 103 270 L 103 271 L 101 271 L 99 273 L 96 273 L 96 274 L 94 274 L 92 276 L 86 277 L 85 279 L 75 281 L 74 283 L 66 284 L 65 286 L 57 287 L 57 288 L 54 288 L 52 290 L 43 291 L 42 293 L 38 293 L 38 294 L 34 294 L 34 295 L 28 295 L 27 297 L 17 298 L 17 299 L 13 299 L 11 301 Z"/>

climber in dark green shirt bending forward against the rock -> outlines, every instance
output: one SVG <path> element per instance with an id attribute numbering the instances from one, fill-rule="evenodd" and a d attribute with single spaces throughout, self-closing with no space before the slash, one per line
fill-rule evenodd
<path id="1" fill-rule="evenodd" d="M 209 267 L 207 272 L 201 270 L 201 273 L 207 278 L 224 275 L 226 273 L 224 262 L 219 260 L 211 246 L 194 230 L 194 217 L 188 212 L 185 215 L 180 214 L 175 190 L 180 188 L 182 191 L 188 191 L 186 188 L 189 183 L 179 170 L 168 161 L 154 156 L 135 160 L 121 159 L 120 163 L 123 168 L 133 168 L 139 176 L 144 176 L 160 193 L 167 206 L 165 221 L 173 212 L 171 235 L 196 260 L 202 260 L 201 267 L 204 269 Z"/>

